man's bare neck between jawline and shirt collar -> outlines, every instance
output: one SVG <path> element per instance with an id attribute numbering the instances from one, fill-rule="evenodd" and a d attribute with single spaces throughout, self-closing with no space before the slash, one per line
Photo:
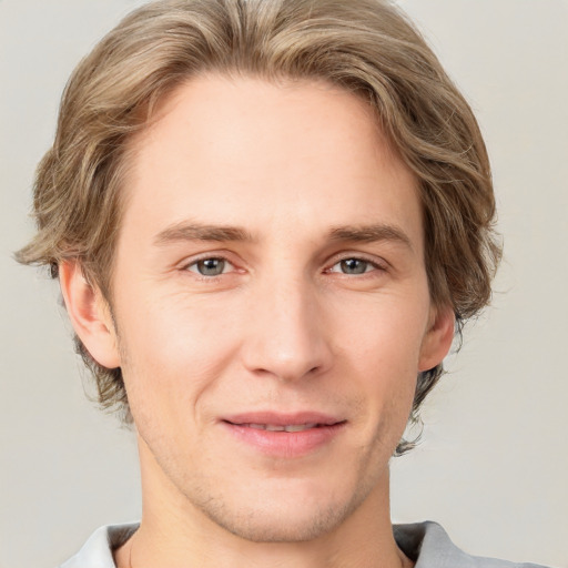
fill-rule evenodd
<path id="1" fill-rule="evenodd" d="M 141 447 L 143 514 L 115 552 L 118 568 L 409 568 L 389 518 L 388 474 L 335 529 L 305 541 L 256 542 L 211 520 L 178 491 Z M 150 462 L 152 458 L 150 457 Z M 149 467 L 150 466 L 150 467 Z"/>

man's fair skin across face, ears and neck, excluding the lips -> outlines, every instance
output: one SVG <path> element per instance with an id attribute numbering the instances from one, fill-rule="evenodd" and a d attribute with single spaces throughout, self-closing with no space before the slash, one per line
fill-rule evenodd
<path id="1" fill-rule="evenodd" d="M 209 74 L 158 113 L 131 141 L 112 311 L 61 267 L 139 436 L 143 516 L 118 566 L 410 566 L 388 460 L 454 331 L 429 298 L 416 180 L 366 104 L 324 82 Z M 266 409 L 343 426 L 273 456 L 223 423 Z"/>

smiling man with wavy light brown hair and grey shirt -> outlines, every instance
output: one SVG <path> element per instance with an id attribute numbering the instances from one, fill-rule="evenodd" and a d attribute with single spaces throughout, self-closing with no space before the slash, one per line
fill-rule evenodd
<path id="1" fill-rule="evenodd" d="M 39 232 L 140 526 L 65 566 L 505 566 L 393 527 L 388 460 L 499 257 L 475 118 L 388 3 L 156 2 L 75 71 Z"/>

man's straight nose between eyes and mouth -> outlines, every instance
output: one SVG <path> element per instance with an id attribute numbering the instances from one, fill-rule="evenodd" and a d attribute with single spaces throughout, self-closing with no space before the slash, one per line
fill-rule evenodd
<path id="1" fill-rule="evenodd" d="M 307 278 L 268 278 L 252 296 L 242 346 L 247 371 L 293 382 L 329 368 L 324 306 Z"/>

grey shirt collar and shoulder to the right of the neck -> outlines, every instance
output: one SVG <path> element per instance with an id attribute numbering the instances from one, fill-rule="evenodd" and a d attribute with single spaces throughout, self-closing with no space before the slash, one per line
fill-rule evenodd
<path id="1" fill-rule="evenodd" d="M 395 525 L 393 530 L 399 548 L 416 561 L 415 568 L 545 568 L 470 556 L 454 545 L 444 528 L 433 521 Z"/>

